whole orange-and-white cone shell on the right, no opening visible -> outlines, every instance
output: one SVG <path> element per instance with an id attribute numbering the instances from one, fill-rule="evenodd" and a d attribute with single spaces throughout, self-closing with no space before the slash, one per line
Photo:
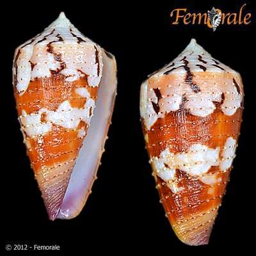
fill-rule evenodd
<path id="1" fill-rule="evenodd" d="M 160 202 L 179 239 L 207 244 L 225 193 L 243 83 L 192 39 L 141 84 L 140 113 Z"/>

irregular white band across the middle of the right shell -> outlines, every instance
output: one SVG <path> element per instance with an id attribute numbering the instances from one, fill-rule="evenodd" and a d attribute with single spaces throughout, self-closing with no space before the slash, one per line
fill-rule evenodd
<path id="1" fill-rule="evenodd" d="M 193 144 L 186 153 L 173 154 L 169 148 L 165 148 L 159 157 L 152 157 L 150 162 L 157 176 L 166 181 L 166 185 L 172 189 L 173 193 L 177 193 L 175 191 L 181 191 L 175 178 L 177 169 L 197 177 L 207 185 L 220 183 L 222 178 L 218 177 L 218 173 L 207 172 L 212 166 L 219 166 L 220 170 L 225 172 L 230 168 L 235 152 L 236 140 L 228 137 L 221 151 L 222 159 L 220 159 L 219 147 L 209 148 L 205 145 Z"/>

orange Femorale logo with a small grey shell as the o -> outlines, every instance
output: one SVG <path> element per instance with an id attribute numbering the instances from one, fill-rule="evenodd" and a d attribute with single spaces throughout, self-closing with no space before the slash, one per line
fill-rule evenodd
<path id="1" fill-rule="evenodd" d="M 187 8 L 178 8 L 172 10 L 170 13 L 170 17 L 173 18 L 172 24 L 179 25 L 182 22 L 184 25 L 193 24 L 193 25 L 200 25 L 205 24 L 213 31 L 220 24 L 227 24 L 227 25 L 248 25 L 251 22 L 252 13 L 245 13 L 246 4 L 243 4 L 239 9 L 239 12 L 234 13 L 225 13 L 221 12 L 220 9 L 215 9 L 212 7 L 210 11 L 207 13 L 190 13 L 187 12 Z"/>

